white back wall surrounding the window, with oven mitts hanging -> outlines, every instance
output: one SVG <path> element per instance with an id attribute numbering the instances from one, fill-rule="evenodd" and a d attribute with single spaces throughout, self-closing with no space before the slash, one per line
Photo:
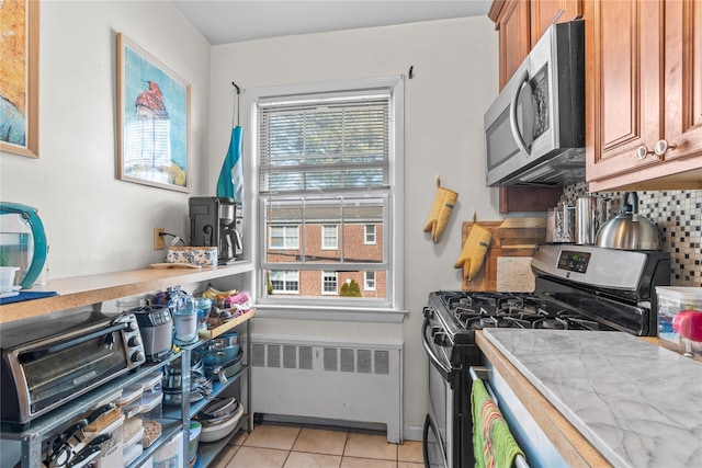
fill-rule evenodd
<path id="1" fill-rule="evenodd" d="M 420 434 L 427 410 L 427 358 L 420 327 L 427 295 L 460 289 L 453 269 L 461 222 L 496 220 L 497 190 L 485 187 L 483 114 L 497 95 L 497 34 L 473 18 L 346 32 L 288 36 L 213 47 L 211 140 L 213 158 L 227 150 L 234 89 L 407 75 L 405 82 L 405 307 L 403 324 L 348 324 L 258 319 L 257 333 L 313 336 L 404 336 L 405 436 Z M 246 123 L 242 121 L 242 126 Z M 245 135 L 247 133 L 245 132 Z M 244 161 L 250 160 L 244 141 Z M 250 164 L 249 164 L 250 167 Z M 218 165 L 210 168 L 216 178 Z M 422 232 L 435 179 L 460 193 L 441 243 Z M 250 199 L 250 198 L 249 198 Z M 343 330 L 343 331 L 342 331 Z"/>

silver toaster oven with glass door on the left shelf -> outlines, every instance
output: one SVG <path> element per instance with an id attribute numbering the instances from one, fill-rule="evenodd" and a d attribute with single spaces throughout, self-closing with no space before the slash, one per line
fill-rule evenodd
<path id="1" fill-rule="evenodd" d="M 77 312 L 0 331 L 0 420 L 26 429 L 146 362 L 133 313 Z"/>

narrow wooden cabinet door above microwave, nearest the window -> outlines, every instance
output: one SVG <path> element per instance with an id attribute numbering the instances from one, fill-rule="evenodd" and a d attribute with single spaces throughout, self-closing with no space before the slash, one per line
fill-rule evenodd
<path id="1" fill-rule="evenodd" d="M 531 48 L 529 34 L 529 1 L 496 1 L 490 18 L 499 31 L 500 90 L 522 64 Z"/>

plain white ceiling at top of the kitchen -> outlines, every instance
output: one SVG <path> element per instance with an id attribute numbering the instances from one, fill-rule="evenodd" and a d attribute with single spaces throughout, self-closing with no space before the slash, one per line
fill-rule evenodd
<path id="1" fill-rule="evenodd" d="M 492 0 L 173 0 L 212 45 L 486 15 Z"/>

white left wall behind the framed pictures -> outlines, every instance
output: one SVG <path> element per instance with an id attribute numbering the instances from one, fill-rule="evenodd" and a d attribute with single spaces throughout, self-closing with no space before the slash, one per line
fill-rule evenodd
<path id="1" fill-rule="evenodd" d="M 0 198 L 38 208 L 49 278 L 162 261 L 152 229 L 185 236 L 185 193 L 115 179 L 116 33 L 191 83 L 192 194 L 207 191 L 211 45 L 170 2 L 42 1 L 39 158 L 0 156 Z"/>

